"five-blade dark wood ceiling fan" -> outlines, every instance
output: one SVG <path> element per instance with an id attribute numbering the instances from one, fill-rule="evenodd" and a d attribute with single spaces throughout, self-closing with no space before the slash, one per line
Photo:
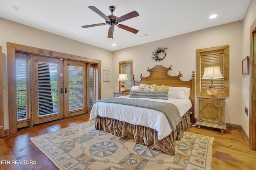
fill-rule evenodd
<path id="1" fill-rule="evenodd" d="M 100 25 L 110 25 L 110 27 L 108 29 L 108 38 L 113 38 L 114 26 L 115 25 L 117 25 L 119 28 L 122 28 L 126 31 L 130 31 L 131 33 L 135 33 L 135 34 L 138 33 L 137 29 L 128 27 L 128 26 L 123 25 L 123 24 L 118 24 L 119 22 L 129 20 L 131 18 L 139 16 L 138 12 L 132 11 L 128 14 L 123 15 L 123 16 L 116 17 L 116 16 L 113 16 L 113 12 L 115 10 L 114 6 L 109 7 L 109 10 L 111 12 L 111 16 L 106 16 L 100 10 L 98 10 L 98 8 L 96 8 L 95 6 L 88 6 L 88 8 L 90 8 L 91 10 L 96 12 L 98 15 L 100 15 L 102 18 L 104 18 L 106 20 L 106 23 L 96 23 L 96 24 L 92 24 L 92 25 L 84 25 L 84 26 L 82 26 L 83 28 L 95 27 L 95 26 L 100 26 Z"/>

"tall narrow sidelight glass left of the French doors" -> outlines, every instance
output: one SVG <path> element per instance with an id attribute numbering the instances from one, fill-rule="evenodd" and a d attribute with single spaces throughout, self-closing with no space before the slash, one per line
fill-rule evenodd
<path id="1" fill-rule="evenodd" d="M 28 65 L 25 59 L 16 59 L 17 119 L 27 118 Z"/>

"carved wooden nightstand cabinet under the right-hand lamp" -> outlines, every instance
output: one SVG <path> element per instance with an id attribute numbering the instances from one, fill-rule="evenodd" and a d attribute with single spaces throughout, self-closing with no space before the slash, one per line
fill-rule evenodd
<path id="1" fill-rule="evenodd" d="M 225 123 L 225 99 L 224 97 L 197 96 L 198 118 L 196 125 L 214 127 L 223 133 Z"/>

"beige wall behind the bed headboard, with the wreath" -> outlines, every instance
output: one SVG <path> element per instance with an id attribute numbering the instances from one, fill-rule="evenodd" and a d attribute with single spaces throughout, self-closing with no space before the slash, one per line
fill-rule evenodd
<path id="1" fill-rule="evenodd" d="M 152 68 L 156 64 L 165 67 L 172 64 L 172 70 L 169 71 L 169 74 L 176 76 L 180 71 L 184 80 L 188 80 L 192 71 L 196 71 L 196 49 L 230 45 L 230 96 L 226 99 L 226 123 L 241 125 L 242 25 L 243 21 L 236 21 L 114 51 L 113 90 L 118 91 L 119 61 L 133 60 L 133 73 L 137 80 L 141 73 L 144 77 L 148 76 L 147 67 Z M 160 62 L 151 59 L 151 51 L 154 51 L 158 46 L 169 47 L 166 50 L 166 58 Z M 195 117 L 197 117 L 197 112 Z"/>

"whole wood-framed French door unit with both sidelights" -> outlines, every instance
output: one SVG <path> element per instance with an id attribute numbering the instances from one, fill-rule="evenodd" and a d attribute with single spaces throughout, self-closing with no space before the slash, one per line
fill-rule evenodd
<path id="1" fill-rule="evenodd" d="M 28 64 L 16 66 L 17 53 L 24 55 L 20 63 Z M 91 103 L 101 99 L 100 60 L 8 42 L 7 55 L 9 134 L 20 127 L 88 113 Z M 21 66 L 27 68 L 18 70 Z M 26 77 L 20 74 L 24 70 Z M 18 101 L 18 95 L 24 98 Z"/>

